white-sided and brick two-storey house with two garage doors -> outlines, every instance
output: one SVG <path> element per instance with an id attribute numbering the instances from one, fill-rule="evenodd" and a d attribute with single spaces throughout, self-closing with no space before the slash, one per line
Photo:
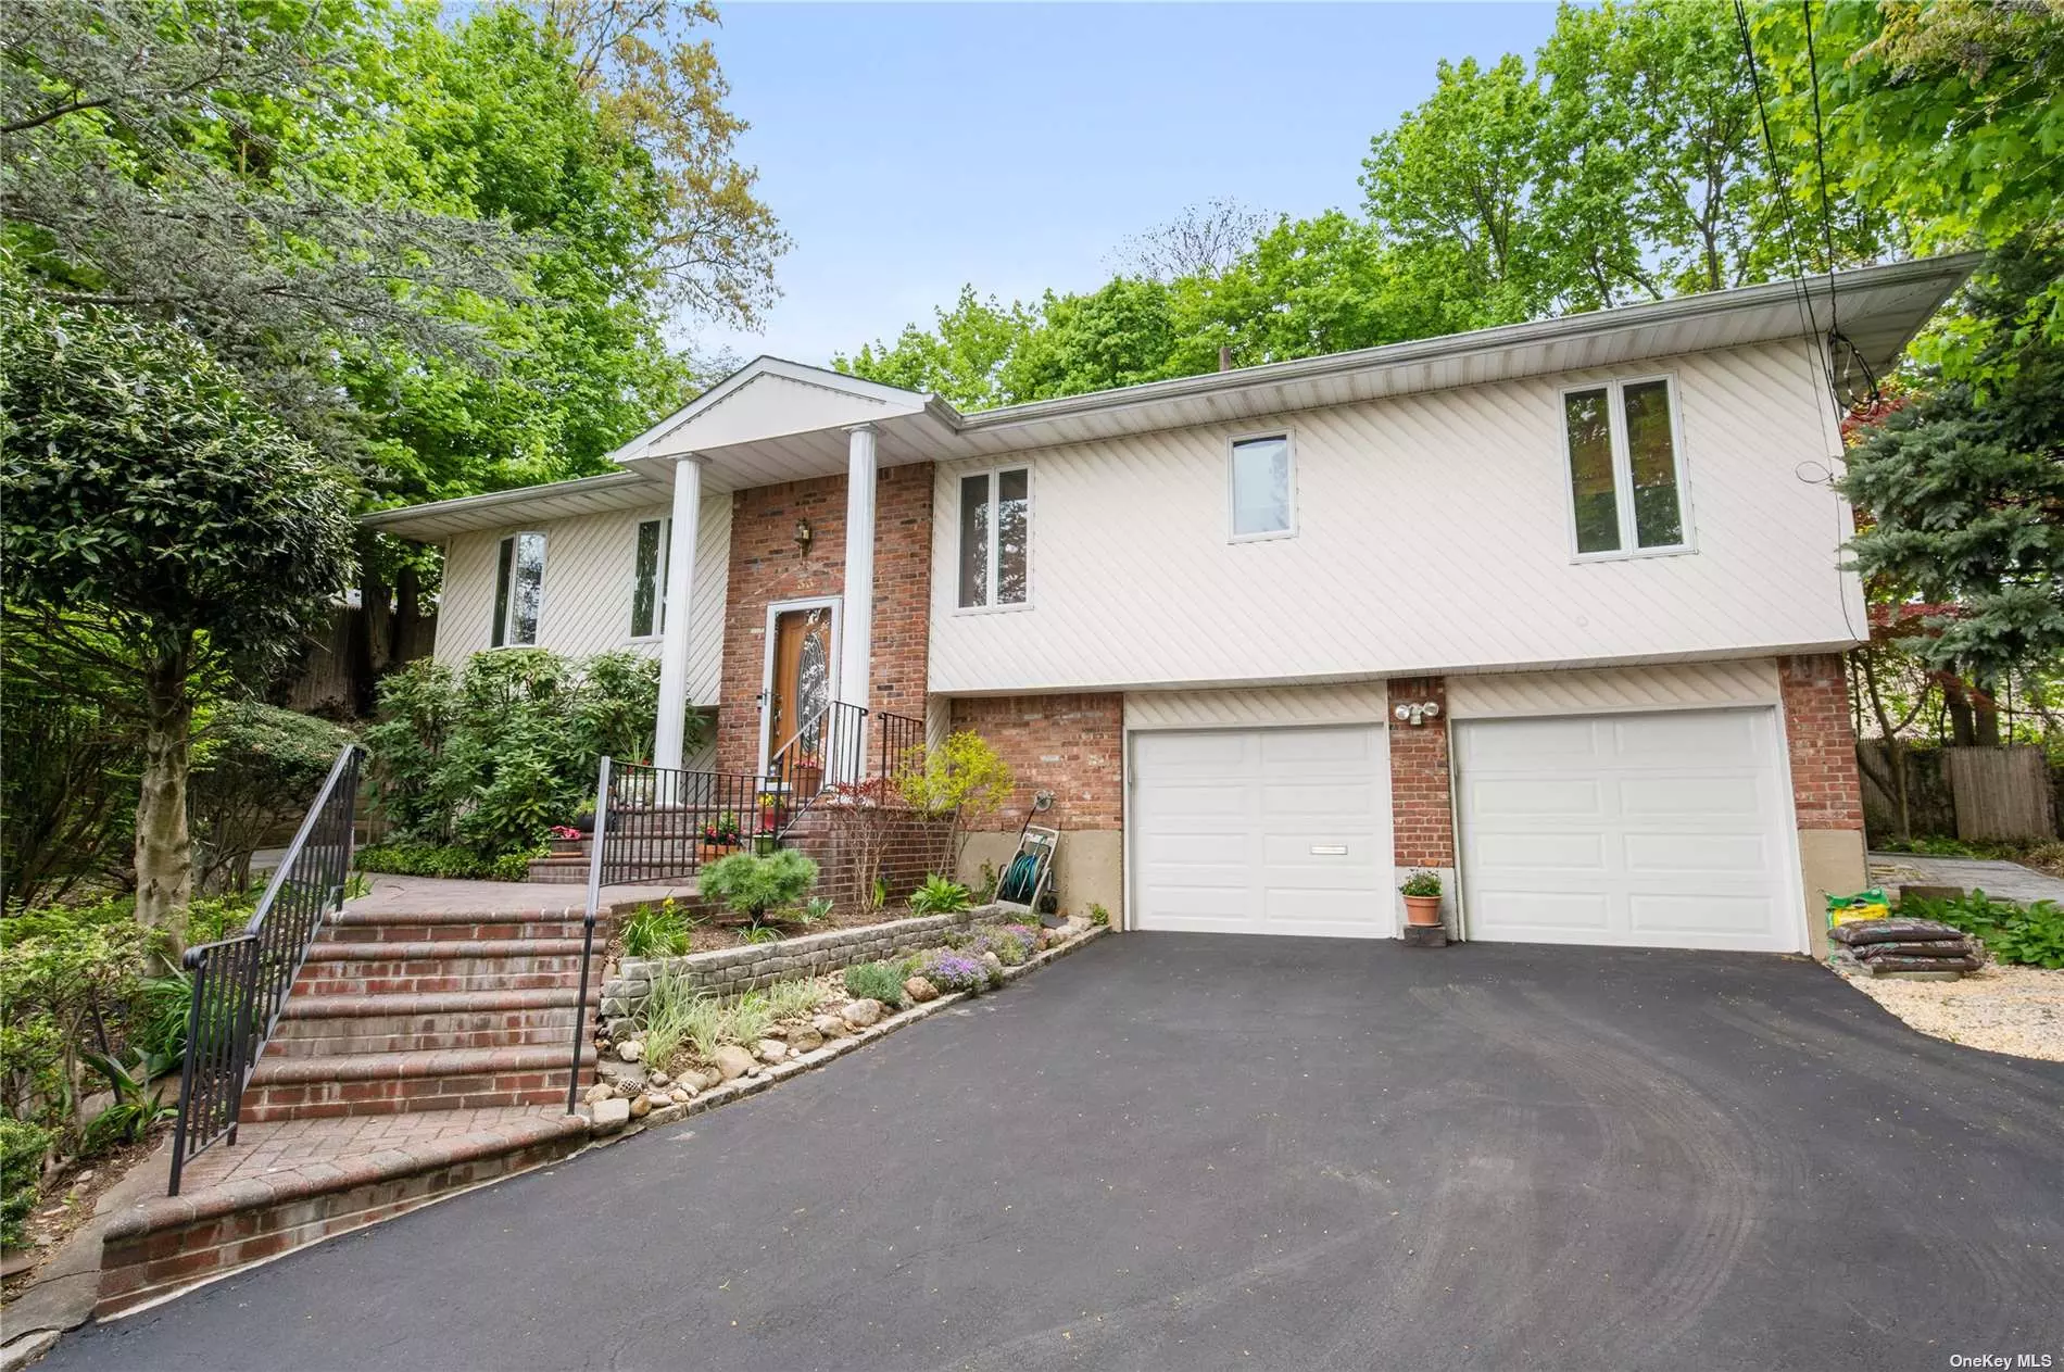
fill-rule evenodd
<path id="1" fill-rule="evenodd" d="M 605 477 L 367 518 L 440 658 L 660 660 L 663 767 L 976 730 L 1125 928 L 1806 951 L 1864 885 L 1831 365 L 1938 258 L 962 415 L 762 357 Z M 1829 330 L 1839 328 L 1839 357 Z M 712 743 L 683 755 L 689 712 Z"/>

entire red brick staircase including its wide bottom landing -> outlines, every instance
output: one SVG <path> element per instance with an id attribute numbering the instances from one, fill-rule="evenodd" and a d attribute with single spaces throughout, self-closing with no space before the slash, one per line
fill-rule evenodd
<path id="1" fill-rule="evenodd" d="M 566 1114 L 580 912 L 361 904 L 374 908 L 328 916 L 310 945 L 244 1089 L 237 1143 L 215 1143 L 178 1197 L 103 1232 L 103 1318 L 586 1143 L 588 1120 Z M 596 955 L 605 943 L 599 928 Z M 592 1079 L 584 1044 L 580 1087 Z"/>

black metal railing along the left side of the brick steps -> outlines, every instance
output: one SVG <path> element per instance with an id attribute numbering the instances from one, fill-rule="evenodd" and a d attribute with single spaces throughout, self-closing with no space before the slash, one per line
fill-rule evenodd
<path id="1" fill-rule="evenodd" d="M 213 1143 L 237 1141 L 244 1085 L 279 1025 L 279 1011 L 324 910 L 345 904 L 363 759 L 355 743 L 338 749 L 244 933 L 186 949 L 184 966 L 194 990 L 186 1011 L 186 1063 L 180 1069 L 167 1195 L 180 1195 L 180 1172 L 188 1159 Z"/>

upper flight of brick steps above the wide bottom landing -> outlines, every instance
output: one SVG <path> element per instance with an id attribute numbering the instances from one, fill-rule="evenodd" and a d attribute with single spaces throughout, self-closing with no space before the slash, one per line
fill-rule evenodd
<path id="1" fill-rule="evenodd" d="M 578 916 L 345 910 L 316 935 L 239 1118 L 563 1102 L 578 994 Z M 592 1069 L 584 1044 L 582 1085 Z"/>

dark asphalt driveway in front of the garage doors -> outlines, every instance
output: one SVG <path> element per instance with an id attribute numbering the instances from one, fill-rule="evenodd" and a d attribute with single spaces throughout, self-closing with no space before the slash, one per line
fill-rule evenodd
<path id="1" fill-rule="evenodd" d="M 2064 1065 L 1808 961 L 1127 935 L 45 1366 L 2064 1368 L 2060 1292 Z"/>

